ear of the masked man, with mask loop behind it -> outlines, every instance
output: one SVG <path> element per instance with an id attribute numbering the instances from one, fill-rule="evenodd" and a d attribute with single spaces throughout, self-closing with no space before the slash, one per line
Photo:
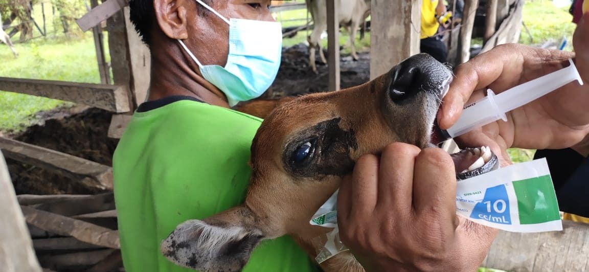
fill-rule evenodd
<path id="1" fill-rule="evenodd" d="M 187 39 L 186 0 L 153 0 L 160 29 L 171 39 Z"/>

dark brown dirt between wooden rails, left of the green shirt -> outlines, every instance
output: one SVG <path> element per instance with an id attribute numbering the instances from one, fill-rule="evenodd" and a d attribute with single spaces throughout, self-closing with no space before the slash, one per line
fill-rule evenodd
<path id="1" fill-rule="evenodd" d="M 97 108 L 90 108 L 77 114 L 71 114 L 70 108 L 56 111 L 61 118 L 45 120 L 42 125 L 33 125 L 15 140 L 38 145 L 100 162 L 112 164 L 112 153 L 118 140 L 107 137 L 111 113 Z M 69 115 L 69 116 L 67 116 Z M 67 116 L 67 117 L 64 117 Z M 62 177 L 31 165 L 7 160 L 16 194 L 92 194 L 97 190 L 73 183 Z"/>

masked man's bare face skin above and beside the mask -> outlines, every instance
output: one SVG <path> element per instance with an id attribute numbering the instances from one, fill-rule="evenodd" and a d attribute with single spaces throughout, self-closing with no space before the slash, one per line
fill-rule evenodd
<path id="1" fill-rule="evenodd" d="M 198 12 L 198 9 L 205 10 L 198 2 L 186 1 L 188 39 L 184 42 L 203 65 L 225 66 L 229 54 L 229 24 L 213 12 Z M 209 5 L 227 19 L 274 21 L 270 0 L 211 0 Z M 198 71 L 196 64 L 192 65 Z"/>

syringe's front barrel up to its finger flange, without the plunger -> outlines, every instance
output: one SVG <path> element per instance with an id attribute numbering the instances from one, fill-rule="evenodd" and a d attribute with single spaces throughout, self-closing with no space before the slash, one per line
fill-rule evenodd
<path id="1" fill-rule="evenodd" d="M 482 127 L 490 122 L 505 119 L 505 112 L 499 110 L 495 102 L 495 94 L 490 89 L 487 90 L 487 97 L 466 105 L 458 121 L 446 132 L 452 138 L 465 134 L 473 128 Z"/>

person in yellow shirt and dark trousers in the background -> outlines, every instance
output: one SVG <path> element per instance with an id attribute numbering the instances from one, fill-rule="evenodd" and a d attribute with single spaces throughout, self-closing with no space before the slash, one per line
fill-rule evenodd
<path id="1" fill-rule="evenodd" d="M 446 13 L 444 1 L 423 0 L 421 5 L 421 41 L 419 47 L 422 53 L 432 55 L 439 62 L 446 62 L 448 48 L 438 33 L 438 16 Z"/>

